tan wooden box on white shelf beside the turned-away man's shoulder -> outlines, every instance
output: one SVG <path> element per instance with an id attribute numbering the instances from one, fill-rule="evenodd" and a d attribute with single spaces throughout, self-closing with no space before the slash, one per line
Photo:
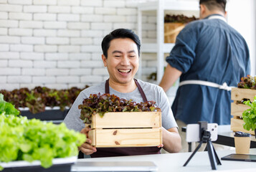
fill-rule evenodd
<path id="1" fill-rule="evenodd" d="M 175 43 L 176 37 L 184 27 L 183 23 L 164 23 L 164 43 Z"/>

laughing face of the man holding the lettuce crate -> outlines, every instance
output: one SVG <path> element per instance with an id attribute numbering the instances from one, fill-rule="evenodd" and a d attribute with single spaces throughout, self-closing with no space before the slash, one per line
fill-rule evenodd
<path id="1" fill-rule="evenodd" d="M 108 49 L 108 58 L 102 55 L 104 66 L 108 68 L 110 80 L 126 85 L 133 81 L 138 71 L 138 48 L 129 38 L 113 39 Z"/>

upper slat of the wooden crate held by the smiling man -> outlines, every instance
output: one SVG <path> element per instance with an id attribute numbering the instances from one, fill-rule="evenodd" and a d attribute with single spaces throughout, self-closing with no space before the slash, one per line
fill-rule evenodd
<path id="1" fill-rule="evenodd" d="M 105 113 L 92 116 L 91 128 L 159 128 L 161 112 Z"/>

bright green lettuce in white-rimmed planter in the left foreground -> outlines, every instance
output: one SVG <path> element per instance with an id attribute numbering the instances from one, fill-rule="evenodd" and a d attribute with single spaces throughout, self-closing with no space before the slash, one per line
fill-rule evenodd
<path id="1" fill-rule="evenodd" d="M 0 171 L 70 171 L 85 135 L 19 116 L 0 94 Z M 44 168 L 47 168 L 44 169 Z"/>

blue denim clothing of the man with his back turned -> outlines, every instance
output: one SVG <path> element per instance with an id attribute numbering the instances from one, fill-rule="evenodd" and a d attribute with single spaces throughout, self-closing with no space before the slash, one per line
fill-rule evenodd
<path id="1" fill-rule="evenodd" d="M 218 14 L 214 14 L 220 16 Z M 250 74 L 250 54 L 245 39 L 222 19 L 191 22 L 179 33 L 166 62 L 182 72 L 184 80 L 204 80 L 237 86 Z M 231 92 L 204 85 L 183 85 L 172 110 L 184 123 L 207 121 L 230 124 Z"/>

